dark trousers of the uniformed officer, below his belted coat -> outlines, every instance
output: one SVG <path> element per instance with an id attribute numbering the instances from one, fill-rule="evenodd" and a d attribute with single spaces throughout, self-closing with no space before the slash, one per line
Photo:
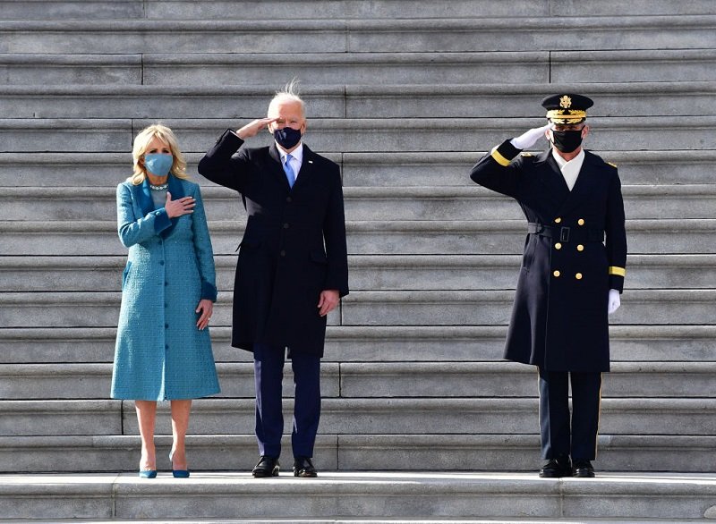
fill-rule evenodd
<path id="1" fill-rule="evenodd" d="M 569 379 L 572 415 L 569 414 Z M 540 369 L 540 433 L 542 459 L 571 456 L 593 461 L 601 403 L 601 373 Z"/>

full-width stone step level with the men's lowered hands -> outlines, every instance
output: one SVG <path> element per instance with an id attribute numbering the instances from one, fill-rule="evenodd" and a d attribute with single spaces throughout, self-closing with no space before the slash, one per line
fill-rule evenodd
<path id="1" fill-rule="evenodd" d="M 568 278 L 565 275 L 565 278 Z M 574 277 L 571 277 L 574 278 Z M 5 327 L 113 327 L 120 292 L 4 292 Z M 351 292 L 328 325 L 507 325 L 515 292 Z M 219 292 L 211 323 L 231 325 L 231 292 Z M 716 290 L 629 290 L 612 324 L 714 325 Z"/>

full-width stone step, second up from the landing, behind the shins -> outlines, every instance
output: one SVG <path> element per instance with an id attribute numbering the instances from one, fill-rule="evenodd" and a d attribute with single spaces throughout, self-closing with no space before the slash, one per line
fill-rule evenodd
<path id="1" fill-rule="evenodd" d="M 535 379 L 531 380 L 534 384 Z M 536 398 L 325 398 L 324 435 L 426 433 L 505 435 L 537 431 Z M 157 435 L 171 435 L 168 402 L 158 406 Z M 0 401 L 0 435 L 139 435 L 132 401 Z M 609 398 L 601 401 L 604 435 L 713 435 L 716 399 Z M 290 419 L 293 400 L 284 400 Z M 253 399 L 192 402 L 192 433 L 235 435 L 252 431 Z"/>

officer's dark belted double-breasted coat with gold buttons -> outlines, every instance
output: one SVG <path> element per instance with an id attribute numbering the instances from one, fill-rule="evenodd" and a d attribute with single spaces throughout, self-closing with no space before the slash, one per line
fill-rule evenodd
<path id="1" fill-rule="evenodd" d="M 609 371 L 609 289 L 621 292 L 626 273 L 617 168 L 585 151 L 570 191 L 551 150 L 519 154 L 507 140 L 470 175 L 516 199 L 529 224 L 505 358 L 548 371 Z"/>

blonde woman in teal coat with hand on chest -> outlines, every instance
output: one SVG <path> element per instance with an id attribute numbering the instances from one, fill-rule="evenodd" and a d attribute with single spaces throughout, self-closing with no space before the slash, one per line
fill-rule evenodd
<path id="1" fill-rule="evenodd" d="M 135 401 L 140 477 L 157 476 L 157 401 L 171 401 L 169 455 L 188 477 L 184 436 L 192 399 L 219 392 L 209 339 L 217 300 L 214 257 L 199 185 L 187 180 L 174 133 L 152 125 L 134 139 L 134 173 L 117 186 L 124 268 L 112 398 Z"/>

